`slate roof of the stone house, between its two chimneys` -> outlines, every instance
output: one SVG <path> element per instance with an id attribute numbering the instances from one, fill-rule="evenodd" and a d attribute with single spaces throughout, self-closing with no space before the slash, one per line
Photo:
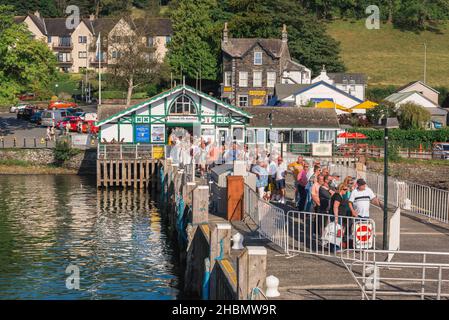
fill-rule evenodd
<path id="1" fill-rule="evenodd" d="M 240 58 L 256 44 L 259 44 L 273 57 L 279 58 L 281 56 L 281 39 L 229 38 L 226 43 L 222 43 L 221 48 L 231 57 Z"/>

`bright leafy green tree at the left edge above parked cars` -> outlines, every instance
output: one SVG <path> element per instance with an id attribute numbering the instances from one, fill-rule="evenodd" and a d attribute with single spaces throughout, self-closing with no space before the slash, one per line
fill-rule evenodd
<path id="1" fill-rule="evenodd" d="M 57 74 L 47 44 L 14 23 L 13 12 L 12 6 L 0 5 L 0 105 L 13 103 L 18 93 L 47 87 Z"/>

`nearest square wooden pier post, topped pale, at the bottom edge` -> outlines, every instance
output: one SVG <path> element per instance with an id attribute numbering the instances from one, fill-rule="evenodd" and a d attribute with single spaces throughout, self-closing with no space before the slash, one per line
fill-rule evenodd
<path id="1" fill-rule="evenodd" d="M 238 300 L 260 299 L 267 277 L 267 249 L 248 246 L 237 258 Z"/>

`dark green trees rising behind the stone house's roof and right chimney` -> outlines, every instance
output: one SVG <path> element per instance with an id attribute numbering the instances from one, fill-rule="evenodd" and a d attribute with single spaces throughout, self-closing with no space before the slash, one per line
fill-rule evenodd
<path id="1" fill-rule="evenodd" d="M 319 74 L 345 71 L 339 43 L 326 33 L 324 24 L 308 14 L 296 0 L 228 0 L 234 14 L 229 21 L 233 37 L 280 38 L 287 25 L 291 56 Z"/>

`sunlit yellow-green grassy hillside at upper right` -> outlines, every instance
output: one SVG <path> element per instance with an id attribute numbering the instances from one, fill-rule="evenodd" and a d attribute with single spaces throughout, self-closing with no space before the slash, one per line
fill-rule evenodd
<path id="1" fill-rule="evenodd" d="M 370 85 L 403 85 L 422 80 L 424 43 L 427 43 L 427 82 L 449 87 L 449 25 L 440 32 L 404 32 L 382 24 L 368 30 L 364 21 L 334 21 L 328 33 L 341 42 L 349 72 L 368 75 Z"/>

